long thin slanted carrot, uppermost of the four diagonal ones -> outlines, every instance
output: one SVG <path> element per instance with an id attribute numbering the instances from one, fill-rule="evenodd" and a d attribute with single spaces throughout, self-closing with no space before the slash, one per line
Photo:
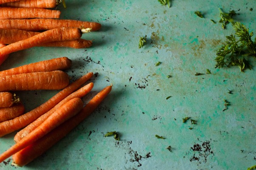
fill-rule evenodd
<path id="1" fill-rule="evenodd" d="M 79 88 L 80 85 L 85 83 L 92 76 L 93 76 L 93 73 L 91 73 L 91 72 L 82 76 L 80 79 L 77 79 L 75 82 L 71 83 L 71 85 L 64 88 L 62 91 L 57 93 L 55 96 L 51 97 L 51 99 L 49 99 L 47 102 L 43 103 L 39 107 L 37 107 L 37 108 L 33 109 L 32 111 L 29 111 L 28 113 L 25 113 L 19 117 L 16 117 L 14 119 L 0 123 L 0 137 L 29 125 L 31 122 L 36 120 L 38 117 L 40 117 L 44 113 L 51 110 L 51 108 L 53 108 L 61 100 L 63 100 L 66 96 L 68 96 L 73 91 L 75 91 L 77 88 Z"/>

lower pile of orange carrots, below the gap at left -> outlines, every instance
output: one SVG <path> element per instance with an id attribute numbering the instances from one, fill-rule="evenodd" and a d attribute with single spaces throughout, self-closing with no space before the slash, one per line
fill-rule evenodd
<path id="1" fill-rule="evenodd" d="M 65 79 L 65 76 L 56 80 L 52 76 L 47 76 L 54 72 L 65 74 L 61 70 L 70 68 L 70 66 L 70 59 L 60 57 L 0 71 L 0 79 L 5 80 L 11 79 L 13 76 L 20 76 L 19 79 L 26 79 L 32 74 L 36 74 L 34 80 L 29 81 L 26 79 L 26 81 L 22 81 L 19 85 L 12 86 L 11 83 L 15 84 L 16 82 L 10 80 L 10 83 L 5 85 L 9 89 L 4 89 L 5 91 L 34 90 L 34 88 L 39 86 L 40 89 L 42 87 L 54 89 L 54 87 L 64 84 L 60 87 L 63 90 L 39 107 L 24 114 L 24 106 L 16 95 L 10 92 L 0 92 L 0 107 L 3 106 L 9 109 L 16 107 L 16 110 L 14 109 L 15 112 L 17 110 L 22 111 L 22 113 L 10 116 L 8 112 L 5 112 L 6 116 L 3 116 L 3 119 L 0 116 L 0 119 L 2 119 L 0 121 L 0 137 L 23 128 L 14 136 L 16 144 L 0 155 L 0 163 L 10 156 L 12 156 L 13 164 L 17 166 L 24 166 L 33 161 L 82 122 L 110 93 L 112 85 L 102 89 L 84 106 L 81 98 L 88 94 L 94 86 L 92 82 L 84 85 L 93 76 L 92 72 L 85 74 L 71 84 L 68 83 L 68 85 L 65 82 L 61 82 L 61 79 Z M 40 79 L 36 78 L 39 76 L 39 73 L 46 74 L 48 82 L 38 83 L 44 81 L 43 77 Z M 17 78 L 15 77 L 15 79 Z M 54 84 L 54 82 L 57 82 L 57 84 Z M 33 85 L 29 85 L 30 83 Z M 0 82 L 0 84 L 2 83 Z M 0 85 L 0 91 L 3 91 L 1 90 L 2 88 L 4 87 Z M 2 113 L 1 108 L 0 113 Z"/>

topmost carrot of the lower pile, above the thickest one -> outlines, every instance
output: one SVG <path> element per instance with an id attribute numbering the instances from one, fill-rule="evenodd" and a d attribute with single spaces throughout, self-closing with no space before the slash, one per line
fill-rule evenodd
<path id="1" fill-rule="evenodd" d="M 0 77 L 33 72 L 65 70 L 70 67 L 71 59 L 68 59 L 68 57 L 59 57 L 0 71 Z"/>

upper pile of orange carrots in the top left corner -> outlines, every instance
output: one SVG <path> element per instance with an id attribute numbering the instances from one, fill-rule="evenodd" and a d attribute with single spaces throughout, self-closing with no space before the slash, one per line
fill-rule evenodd
<path id="1" fill-rule="evenodd" d="M 82 34 L 97 31 L 100 23 L 62 20 L 54 10 L 61 0 L 0 0 L 0 65 L 9 54 L 31 48 L 88 48 Z M 64 1 L 63 1 L 64 2 Z"/>

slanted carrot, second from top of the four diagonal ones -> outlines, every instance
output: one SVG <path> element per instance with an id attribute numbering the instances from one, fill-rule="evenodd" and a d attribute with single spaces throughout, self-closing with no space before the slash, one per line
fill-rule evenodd
<path id="1" fill-rule="evenodd" d="M 59 102 L 54 108 L 52 108 L 47 113 L 40 116 L 37 120 L 26 126 L 24 129 L 20 130 L 15 136 L 14 136 L 14 142 L 19 142 L 21 139 L 23 139 L 25 136 L 27 136 L 29 133 L 31 133 L 35 128 L 37 128 L 39 125 L 41 125 L 51 114 L 54 113 L 58 108 L 60 108 L 64 103 L 67 101 L 74 99 L 74 98 L 81 98 L 88 94 L 89 91 L 93 88 L 93 83 L 89 83 L 88 85 L 85 85 L 84 87 L 80 88 L 76 92 L 70 94 L 65 99 L 63 99 L 61 102 Z"/>

